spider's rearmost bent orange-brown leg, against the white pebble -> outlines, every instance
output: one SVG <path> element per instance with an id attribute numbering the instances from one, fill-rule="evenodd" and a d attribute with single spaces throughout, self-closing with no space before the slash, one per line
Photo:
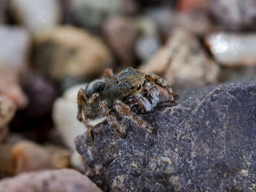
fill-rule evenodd
<path id="1" fill-rule="evenodd" d="M 91 131 L 90 131 L 90 125 L 89 125 L 89 121 L 88 121 L 89 108 L 86 108 L 86 110 L 84 111 L 84 119 L 83 119 L 83 116 L 82 116 L 82 106 L 83 106 L 83 103 L 86 104 L 87 101 L 88 101 L 88 97 L 87 97 L 85 91 L 83 89 L 80 89 L 78 94 L 77 94 L 77 105 L 78 105 L 77 119 L 85 125 L 86 131 L 87 131 L 87 134 L 88 134 L 88 138 L 92 139 L 92 134 L 91 134 Z"/>

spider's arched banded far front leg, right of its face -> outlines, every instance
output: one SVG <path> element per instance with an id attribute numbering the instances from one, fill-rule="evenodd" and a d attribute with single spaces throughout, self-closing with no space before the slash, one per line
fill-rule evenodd
<path id="1" fill-rule="evenodd" d="M 170 102 L 175 103 L 174 102 L 174 95 L 175 95 L 175 93 L 172 90 L 171 85 L 167 81 L 165 81 L 163 78 L 158 77 L 156 74 L 153 74 L 153 73 L 146 73 L 146 78 L 148 79 L 148 81 L 154 82 L 157 85 L 159 85 L 159 86 L 163 87 L 164 89 L 166 89 L 166 91 L 169 94 Z"/>

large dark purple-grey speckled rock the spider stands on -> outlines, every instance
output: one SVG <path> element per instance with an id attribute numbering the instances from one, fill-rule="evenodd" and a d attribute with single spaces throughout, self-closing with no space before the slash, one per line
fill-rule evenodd
<path id="1" fill-rule="evenodd" d="M 126 122 L 121 139 L 105 121 L 78 136 L 89 178 L 104 191 L 255 191 L 256 78 L 177 103 L 142 115 L 157 135 Z"/>

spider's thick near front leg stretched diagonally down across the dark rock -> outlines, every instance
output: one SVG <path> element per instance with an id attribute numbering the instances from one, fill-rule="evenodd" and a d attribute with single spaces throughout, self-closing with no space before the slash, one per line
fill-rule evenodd
<path id="1" fill-rule="evenodd" d="M 141 119 L 140 116 L 135 114 L 129 106 L 125 105 L 125 103 L 116 100 L 114 103 L 114 109 L 119 115 L 126 116 L 135 124 L 139 124 L 143 128 L 147 129 L 150 133 L 156 133 L 145 121 Z"/>

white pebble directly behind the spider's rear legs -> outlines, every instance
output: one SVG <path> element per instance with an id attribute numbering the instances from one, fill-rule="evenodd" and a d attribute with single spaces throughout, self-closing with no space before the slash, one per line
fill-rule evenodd
<path id="1" fill-rule="evenodd" d="M 85 126 L 79 122 L 77 116 L 77 93 L 79 89 L 85 88 L 86 84 L 75 85 L 63 93 L 63 96 L 55 100 L 52 111 L 52 118 L 55 127 L 59 131 L 63 142 L 71 149 L 75 150 L 75 138 L 85 132 Z M 90 120 L 90 125 L 94 126 L 103 119 Z"/>

